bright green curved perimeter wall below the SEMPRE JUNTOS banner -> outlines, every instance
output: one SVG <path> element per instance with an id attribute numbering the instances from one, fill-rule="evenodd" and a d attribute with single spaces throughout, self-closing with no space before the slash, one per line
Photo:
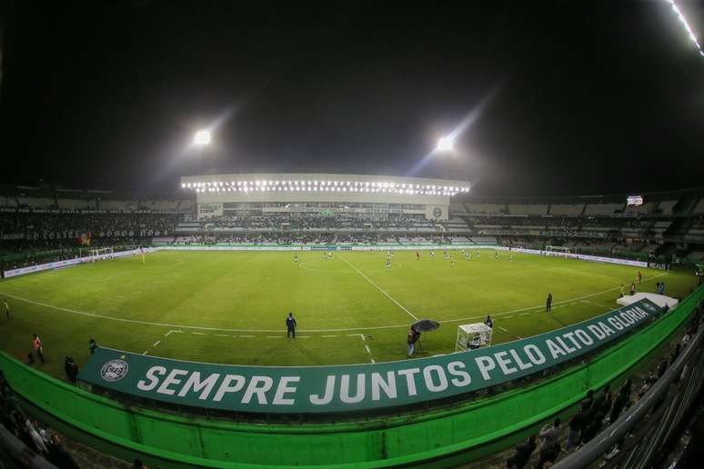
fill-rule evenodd
<path id="1" fill-rule="evenodd" d="M 87 393 L 0 354 L 0 368 L 28 411 L 76 440 L 162 467 L 247 464 L 378 467 L 460 464 L 504 449 L 548 418 L 568 414 L 589 388 L 625 374 L 667 341 L 704 288 L 658 322 L 588 364 L 546 380 L 441 410 L 342 424 L 237 424 L 130 407 Z"/>

